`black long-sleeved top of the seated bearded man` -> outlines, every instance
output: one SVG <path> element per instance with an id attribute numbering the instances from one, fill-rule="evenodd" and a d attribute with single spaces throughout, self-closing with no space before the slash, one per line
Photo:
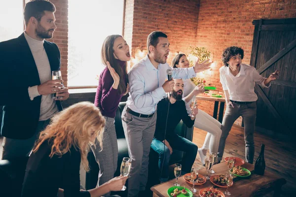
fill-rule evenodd
<path id="1" fill-rule="evenodd" d="M 157 104 L 157 120 L 154 138 L 159 141 L 164 140 L 165 122 L 167 118 L 169 99 L 164 98 Z M 170 143 L 170 139 L 175 137 L 177 134 L 174 132 L 175 128 L 180 121 L 183 121 L 187 127 L 192 127 L 194 120 L 191 120 L 190 116 L 186 111 L 185 102 L 183 100 L 170 103 L 169 116 L 166 128 L 165 139 Z"/>

